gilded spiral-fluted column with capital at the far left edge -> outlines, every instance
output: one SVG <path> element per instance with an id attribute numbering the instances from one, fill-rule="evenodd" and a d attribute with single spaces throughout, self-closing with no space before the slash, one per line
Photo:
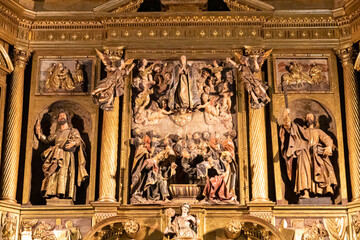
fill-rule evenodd
<path id="1" fill-rule="evenodd" d="M 14 49 L 15 67 L 8 86 L 8 113 L 5 124 L 4 152 L 1 164 L 1 200 L 16 203 L 20 158 L 21 124 L 25 67 L 31 53 Z"/>

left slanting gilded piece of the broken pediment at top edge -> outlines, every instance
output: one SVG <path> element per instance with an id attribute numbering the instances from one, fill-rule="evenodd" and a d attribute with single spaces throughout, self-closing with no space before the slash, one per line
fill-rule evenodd
<path id="1" fill-rule="evenodd" d="M 111 0 L 96 8 L 94 12 L 136 12 L 144 0 Z"/>

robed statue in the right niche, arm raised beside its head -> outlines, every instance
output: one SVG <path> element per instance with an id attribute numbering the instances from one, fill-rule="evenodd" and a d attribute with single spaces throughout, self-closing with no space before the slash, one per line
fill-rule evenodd
<path id="1" fill-rule="evenodd" d="M 315 128 L 316 118 L 313 113 L 306 115 L 306 127 L 292 122 L 289 113 L 290 110 L 286 109 L 279 135 L 281 154 L 290 180 L 293 179 L 293 160 L 296 160 L 294 191 L 300 198 L 309 198 L 310 194 L 334 194 L 337 180 L 329 159 L 334 147 L 333 140 Z"/>

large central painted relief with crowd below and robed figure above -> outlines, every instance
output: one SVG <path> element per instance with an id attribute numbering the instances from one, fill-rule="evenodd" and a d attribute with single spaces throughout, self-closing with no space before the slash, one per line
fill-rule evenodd
<path id="1" fill-rule="evenodd" d="M 137 65 L 130 203 L 238 203 L 233 65 L 186 56 Z"/>

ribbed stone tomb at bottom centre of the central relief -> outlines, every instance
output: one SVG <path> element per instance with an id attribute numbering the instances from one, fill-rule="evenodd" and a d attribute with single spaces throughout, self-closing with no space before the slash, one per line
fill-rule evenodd
<path id="1" fill-rule="evenodd" d="M 201 193 L 201 187 L 197 184 L 171 184 L 169 189 L 174 203 L 196 203 Z"/>

